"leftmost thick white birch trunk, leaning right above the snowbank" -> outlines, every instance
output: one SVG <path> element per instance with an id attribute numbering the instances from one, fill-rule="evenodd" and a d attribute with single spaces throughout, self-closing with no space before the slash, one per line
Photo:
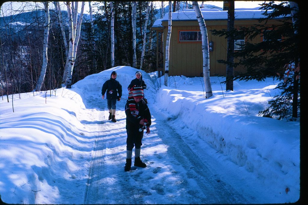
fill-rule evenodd
<path id="1" fill-rule="evenodd" d="M 49 8 L 48 2 L 43 2 L 45 8 L 45 24 L 44 24 L 44 40 L 43 40 L 43 64 L 39 76 L 36 91 L 41 91 L 47 69 L 47 49 L 48 49 L 48 35 L 49 35 Z"/>

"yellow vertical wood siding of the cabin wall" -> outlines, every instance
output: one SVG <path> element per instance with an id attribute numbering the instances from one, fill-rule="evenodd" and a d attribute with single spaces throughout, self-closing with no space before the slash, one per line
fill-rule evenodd
<path id="1" fill-rule="evenodd" d="M 268 24 L 278 24 L 277 20 L 270 20 Z M 235 20 L 234 27 L 249 27 L 251 25 L 260 24 L 258 20 Z M 205 25 L 208 32 L 208 41 L 213 42 L 213 51 L 209 52 L 210 58 L 210 76 L 225 76 L 226 65 L 218 63 L 217 60 L 227 59 L 227 38 L 214 36 L 211 30 L 227 29 L 227 20 L 206 20 Z M 162 21 L 163 29 L 163 45 L 164 45 L 164 59 L 165 59 L 165 45 L 168 33 L 168 21 Z M 153 28 L 155 29 L 155 28 Z M 200 30 L 199 24 L 196 21 L 175 21 L 172 20 L 172 30 L 169 46 L 169 76 L 203 76 L 203 54 L 201 42 L 179 42 L 179 30 Z M 161 30 L 160 30 L 161 31 Z M 158 32 L 158 30 L 157 30 Z M 250 43 L 261 42 L 261 36 L 254 38 Z M 245 42 L 246 39 L 245 39 Z M 236 52 L 236 51 L 235 51 Z M 238 62 L 239 59 L 234 59 Z M 164 61 L 165 65 L 165 61 Z M 163 67 L 164 67 L 163 65 Z M 163 68 L 163 71 L 165 69 Z M 234 72 L 246 72 L 245 68 L 236 67 Z"/>

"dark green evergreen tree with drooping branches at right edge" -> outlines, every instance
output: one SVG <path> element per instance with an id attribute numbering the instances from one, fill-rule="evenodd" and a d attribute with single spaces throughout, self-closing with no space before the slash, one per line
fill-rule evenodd
<path id="1" fill-rule="evenodd" d="M 234 73 L 233 80 L 258 80 L 262 81 L 267 77 L 285 79 L 277 86 L 279 94 L 269 101 L 269 106 L 260 111 L 259 115 L 273 117 L 276 119 L 297 118 L 300 110 L 300 80 L 299 80 L 299 32 L 294 32 L 294 28 L 299 27 L 299 17 L 292 22 L 291 9 L 288 2 L 274 4 L 268 2 L 261 4 L 261 9 L 265 18 L 259 20 L 260 25 L 250 27 L 240 27 L 232 31 L 212 30 L 213 35 L 245 36 L 245 45 L 234 53 L 234 67 L 241 66 L 246 69 L 246 73 Z M 272 11 L 271 11 L 272 10 Z M 296 13 L 298 15 L 299 12 Z M 281 24 L 269 24 L 270 19 L 279 18 Z M 261 36 L 265 40 L 258 43 L 250 43 L 256 36 Z M 218 62 L 228 64 L 227 61 Z"/>

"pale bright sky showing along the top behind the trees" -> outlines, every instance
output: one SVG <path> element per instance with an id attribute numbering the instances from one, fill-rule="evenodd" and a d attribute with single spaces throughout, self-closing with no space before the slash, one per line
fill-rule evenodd
<path id="1" fill-rule="evenodd" d="M 94 3 L 94 2 L 92 2 Z M 261 4 L 263 3 L 262 1 L 235 1 L 235 4 L 234 4 L 234 7 L 235 8 L 255 8 L 255 7 L 259 7 Z M 25 1 L 22 1 L 22 2 L 12 2 L 12 7 L 8 6 L 10 4 L 10 1 L 6 1 L 3 3 L 3 10 L 1 10 L 1 16 L 2 15 L 10 15 L 10 14 L 14 14 L 16 10 L 31 10 L 32 9 L 32 6 L 35 6 L 35 5 L 38 5 L 39 7 L 41 7 L 41 9 L 44 9 L 44 6 L 43 6 L 43 3 L 40 3 L 40 2 L 37 2 L 35 4 L 35 2 L 25 2 Z M 201 4 L 201 2 L 200 2 Z M 223 1 L 208 1 L 208 2 L 205 2 L 205 4 L 211 4 L 211 5 L 216 5 L 216 6 L 219 6 L 219 7 L 223 7 Z M 32 6 L 31 6 L 32 5 Z M 92 5 L 92 4 L 91 4 Z M 168 1 L 165 2 L 165 6 L 168 5 Z M 24 7 L 26 6 L 26 7 Z M 52 3 L 49 4 L 50 8 L 53 8 L 54 5 Z M 160 6 L 160 4 L 158 4 L 157 6 Z M 81 3 L 80 3 L 80 6 L 79 8 L 81 7 Z M 61 4 L 61 8 L 65 9 L 66 10 L 66 7 L 63 4 Z M 95 11 L 95 7 L 92 7 L 92 12 Z M 89 14 L 89 4 L 88 2 L 85 3 L 85 7 L 84 7 L 84 13 L 85 14 Z"/>

